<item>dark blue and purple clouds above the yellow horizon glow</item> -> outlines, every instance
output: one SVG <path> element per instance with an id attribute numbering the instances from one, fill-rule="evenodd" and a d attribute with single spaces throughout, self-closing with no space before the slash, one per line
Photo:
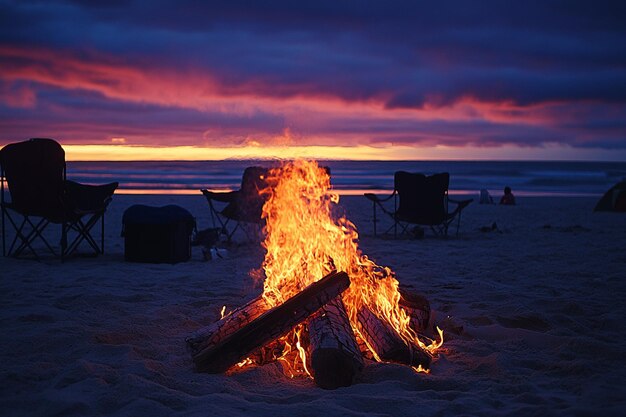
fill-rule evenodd
<path id="1" fill-rule="evenodd" d="M 130 87 L 116 89 L 123 81 L 114 77 L 102 80 L 107 89 L 93 87 L 91 79 L 69 91 L 62 66 L 43 70 L 57 77 L 54 87 L 42 79 L 29 84 L 15 74 L 32 71 L 32 62 L 0 55 L 1 91 L 11 96 L 2 101 L 0 133 L 17 132 L 14 126 L 27 120 L 129 131 L 160 126 L 189 137 L 210 129 L 273 133 L 300 125 L 311 135 L 360 134 L 370 143 L 560 141 L 626 148 L 619 122 L 626 119 L 624 21 L 626 3 L 615 1 L 0 1 L 0 46 L 52 51 L 76 61 L 74 72 L 81 62 L 105 63 L 174 74 L 182 84 L 204 77 L 212 94 L 240 102 L 306 98 L 381 107 L 374 120 L 330 112 L 312 127 L 278 105 L 241 111 L 241 102 L 237 111 L 218 111 L 210 103 L 129 102 Z M 468 100 L 508 103 L 508 114 L 499 113 L 508 120 L 478 110 L 470 120 L 393 116 Z M 567 112 L 555 110 L 559 105 Z M 537 106 L 545 106 L 546 120 L 525 121 Z"/>

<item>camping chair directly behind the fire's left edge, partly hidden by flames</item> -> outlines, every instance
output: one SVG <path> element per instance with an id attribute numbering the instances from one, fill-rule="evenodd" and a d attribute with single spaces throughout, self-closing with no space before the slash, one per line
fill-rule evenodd
<path id="1" fill-rule="evenodd" d="M 200 190 L 209 203 L 213 227 L 219 228 L 229 243 L 240 228 L 249 240 L 259 237 L 263 226 L 263 204 L 267 199 L 267 194 L 260 191 L 268 186 L 268 171 L 269 169 L 262 167 L 246 168 L 241 179 L 241 188 L 237 191 Z M 231 226 L 233 223 L 234 226 Z"/>

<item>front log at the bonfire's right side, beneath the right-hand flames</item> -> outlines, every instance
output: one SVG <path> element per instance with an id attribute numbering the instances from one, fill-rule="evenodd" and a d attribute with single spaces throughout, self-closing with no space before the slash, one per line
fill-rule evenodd
<path id="1" fill-rule="evenodd" d="M 428 368 L 431 355 L 417 345 L 407 346 L 398 333 L 379 319 L 369 308 L 362 306 L 357 312 L 357 328 L 368 347 L 383 361 Z"/>

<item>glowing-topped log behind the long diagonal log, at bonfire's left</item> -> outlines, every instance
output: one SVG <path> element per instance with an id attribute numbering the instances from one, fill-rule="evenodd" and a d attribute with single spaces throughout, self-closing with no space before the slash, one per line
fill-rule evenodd
<path id="1" fill-rule="evenodd" d="M 222 320 L 210 324 L 186 339 L 187 347 L 192 355 L 220 343 L 252 320 L 269 310 L 269 305 L 262 296 L 249 301 L 233 310 Z"/>

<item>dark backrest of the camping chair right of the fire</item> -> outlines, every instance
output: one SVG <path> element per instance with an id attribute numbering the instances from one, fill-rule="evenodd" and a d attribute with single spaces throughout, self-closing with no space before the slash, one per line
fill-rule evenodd
<path id="1" fill-rule="evenodd" d="M 396 216 L 418 224 L 442 223 L 447 216 L 449 184 L 450 174 L 447 172 L 430 176 L 396 172 L 394 186 L 399 197 Z"/>

